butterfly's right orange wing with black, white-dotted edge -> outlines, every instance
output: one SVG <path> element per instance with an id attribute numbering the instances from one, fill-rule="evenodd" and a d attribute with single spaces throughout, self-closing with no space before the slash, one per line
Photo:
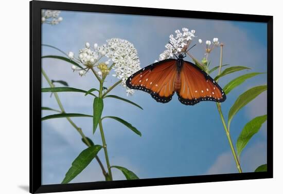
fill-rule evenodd
<path id="1" fill-rule="evenodd" d="M 177 92 L 179 101 L 194 105 L 200 101 L 223 102 L 226 95 L 217 82 L 197 65 L 184 61 L 181 70 L 181 88 Z"/>

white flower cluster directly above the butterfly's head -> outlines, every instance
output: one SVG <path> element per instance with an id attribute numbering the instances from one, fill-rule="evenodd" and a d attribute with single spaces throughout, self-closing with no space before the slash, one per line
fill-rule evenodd
<path id="1" fill-rule="evenodd" d="M 166 50 L 160 54 L 159 60 L 169 59 L 180 52 L 186 52 L 192 39 L 196 37 L 194 33 L 195 30 L 190 30 L 188 28 L 183 28 L 183 32 L 180 30 L 175 30 L 175 36 L 171 34 L 169 36 L 169 43 L 165 45 Z"/>

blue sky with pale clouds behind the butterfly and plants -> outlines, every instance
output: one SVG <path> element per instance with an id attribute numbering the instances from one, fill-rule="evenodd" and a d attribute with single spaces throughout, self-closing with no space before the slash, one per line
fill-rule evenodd
<path id="1" fill-rule="evenodd" d="M 112 37 L 124 38 L 134 44 L 140 66 L 145 67 L 158 59 L 159 54 L 165 50 L 168 36 L 175 29 L 187 27 L 196 30 L 196 43 L 198 38 L 205 41 L 214 37 L 224 43 L 223 64 L 252 68 L 250 71 L 225 76 L 220 80 L 220 86 L 224 87 L 230 80 L 244 73 L 267 71 L 267 26 L 263 23 L 68 11 L 61 12 L 60 16 L 63 17 L 61 24 L 42 26 L 42 43 L 56 46 L 65 52 L 73 51 L 77 54 L 85 42 L 101 45 Z M 61 55 L 47 47 L 42 47 L 42 54 Z M 203 46 L 197 44 L 191 54 L 201 60 L 204 56 Z M 211 67 L 219 65 L 219 55 L 219 48 L 210 54 Z M 191 61 L 188 58 L 186 60 Z M 64 80 L 70 87 L 84 90 L 98 87 L 93 74 L 80 77 L 70 66 L 59 60 L 42 60 L 42 67 L 50 79 Z M 109 76 L 105 86 L 111 86 L 116 81 L 115 77 Z M 222 103 L 225 119 L 239 94 L 266 82 L 265 74 L 258 75 L 229 93 L 227 100 Z M 42 87 L 49 87 L 44 78 Z M 111 165 L 126 167 L 141 179 L 237 172 L 215 103 L 201 102 L 195 106 L 185 106 L 176 95 L 167 104 L 156 103 L 143 91 L 136 91 L 133 96 L 127 97 L 122 87 L 116 87 L 111 93 L 144 108 L 140 110 L 115 99 L 104 100 L 103 115 L 125 119 L 143 134 L 139 137 L 114 120 L 103 120 Z M 92 114 L 91 96 L 59 93 L 59 97 L 66 112 Z M 266 99 L 267 94 L 264 92 L 235 116 L 231 124 L 234 144 L 247 122 L 267 113 Z M 42 94 L 42 106 L 59 109 L 54 96 L 50 98 L 50 93 Z M 42 115 L 51 113 L 43 111 Z M 73 121 L 95 144 L 102 144 L 99 130 L 92 135 L 90 118 L 74 118 Z M 254 171 L 257 166 L 266 163 L 266 133 L 267 126 L 264 124 L 242 152 L 240 161 L 244 172 Z M 61 183 L 73 160 L 86 146 L 66 119 L 42 122 L 42 142 L 42 183 Z M 105 164 L 102 150 L 98 156 Z M 115 180 L 125 179 L 116 169 L 113 169 L 113 177 Z M 72 182 L 102 180 L 101 170 L 93 160 Z"/>

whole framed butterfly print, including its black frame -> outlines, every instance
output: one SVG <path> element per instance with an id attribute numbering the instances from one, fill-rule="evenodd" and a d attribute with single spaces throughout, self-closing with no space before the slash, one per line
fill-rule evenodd
<path id="1" fill-rule="evenodd" d="M 30 2 L 30 192 L 273 177 L 272 16 Z"/>

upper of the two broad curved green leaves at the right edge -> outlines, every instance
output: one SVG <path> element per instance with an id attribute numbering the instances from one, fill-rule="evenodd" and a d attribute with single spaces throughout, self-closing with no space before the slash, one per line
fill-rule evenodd
<path id="1" fill-rule="evenodd" d="M 229 110 L 228 114 L 228 129 L 230 128 L 231 121 L 234 117 L 234 115 L 241 109 L 243 108 L 247 103 L 251 102 L 254 100 L 259 94 L 261 94 L 263 91 L 267 90 L 267 86 L 256 86 L 253 87 L 241 95 L 239 95 L 238 99 L 235 101 L 234 105 L 231 107 Z"/>

